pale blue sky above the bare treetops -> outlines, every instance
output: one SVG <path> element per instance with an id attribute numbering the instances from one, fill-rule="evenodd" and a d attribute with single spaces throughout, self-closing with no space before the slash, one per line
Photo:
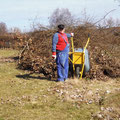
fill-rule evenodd
<path id="1" fill-rule="evenodd" d="M 0 22 L 9 29 L 28 31 L 33 23 L 48 25 L 48 18 L 56 8 L 68 8 L 76 17 L 86 11 L 96 19 L 116 9 L 107 17 L 120 19 L 120 6 L 115 0 L 0 0 Z"/>

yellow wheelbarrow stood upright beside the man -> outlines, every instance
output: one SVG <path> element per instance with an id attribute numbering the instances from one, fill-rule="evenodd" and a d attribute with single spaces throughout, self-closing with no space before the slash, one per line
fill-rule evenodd
<path id="1" fill-rule="evenodd" d="M 71 37 L 72 51 L 69 52 L 69 71 L 72 76 L 82 79 L 82 76 L 90 70 L 88 50 L 86 49 L 90 41 L 88 40 L 84 48 L 74 48 L 73 37 Z"/>

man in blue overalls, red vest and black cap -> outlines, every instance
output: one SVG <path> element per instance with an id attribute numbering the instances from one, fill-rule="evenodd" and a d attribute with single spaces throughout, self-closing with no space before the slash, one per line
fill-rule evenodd
<path id="1" fill-rule="evenodd" d="M 68 38 L 74 36 L 73 33 L 65 32 L 64 25 L 58 25 L 58 32 L 53 36 L 52 40 L 52 58 L 57 64 L 57 81 L 64 82 L 68 78 L 68 57 L 69 57 L 69 42 Z"/>

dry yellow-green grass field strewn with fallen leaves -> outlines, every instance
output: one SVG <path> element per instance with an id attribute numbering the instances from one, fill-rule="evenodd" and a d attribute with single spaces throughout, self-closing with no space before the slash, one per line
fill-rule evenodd
<path id="1" fill-rule="evenodd" d="M 0 50 L 0 120 L 120 120 L 120 78 L 56 83 L 17 69 L 17 54 Z"/>

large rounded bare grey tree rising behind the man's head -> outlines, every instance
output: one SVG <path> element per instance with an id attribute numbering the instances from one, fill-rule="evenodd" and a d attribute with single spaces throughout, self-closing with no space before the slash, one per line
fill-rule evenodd
<path id="1" fill-rule="evenodd" d="M 49 17 L 49 24 L 51 28 L 55 28 L 58 24 L 64 24 L 67 27 L 72 26 L 74 24 L 74 17 L 67 8 L 57 8 Z"/>

